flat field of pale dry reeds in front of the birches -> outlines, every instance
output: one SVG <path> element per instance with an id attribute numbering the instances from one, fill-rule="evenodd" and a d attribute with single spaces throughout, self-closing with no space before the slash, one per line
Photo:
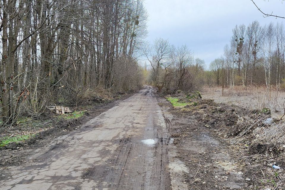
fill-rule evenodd
<path id="1" fill-rule="evenodd" d="M 224 96 L 222 96 L 222 89 L 219 87 L 204 87 L 202 97 L 203 99 L 214 99 L 217 103 L 235 104 L 251 110 L 269 108 L 273 118 L 280 118 L 284 115 L 285 92 L 269 91 L 265 87 L 225 88 Z"/>

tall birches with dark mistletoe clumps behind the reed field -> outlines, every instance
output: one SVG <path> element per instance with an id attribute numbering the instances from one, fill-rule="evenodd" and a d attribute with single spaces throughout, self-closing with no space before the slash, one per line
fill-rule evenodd
<path id="1" fill-rule="evenodd" d="M 210 64 L 205 82 L 210 85 L 266 85 L 277 90 L 285 85 L 285 29 L 283 23 L 235 26 L 224 55 Z"/>

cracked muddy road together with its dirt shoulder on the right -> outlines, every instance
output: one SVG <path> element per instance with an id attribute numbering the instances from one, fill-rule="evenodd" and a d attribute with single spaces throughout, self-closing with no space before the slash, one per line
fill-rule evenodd
<path id="1" fill-rule="evenodd" d="M 144 86 L 7 167 L 0 190 L 248 189 L 232 150 L 199 117 Z"/>

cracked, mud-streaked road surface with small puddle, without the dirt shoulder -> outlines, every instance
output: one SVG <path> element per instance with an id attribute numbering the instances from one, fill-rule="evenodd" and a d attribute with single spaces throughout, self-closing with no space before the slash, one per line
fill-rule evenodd
<path id="1" fill-rule="evenodd" d="M 0 189 L 172 189 L 172 125 L 152 94 L 145 86 L 79 130 L 38 148 L 23 166 L 8 168 Z"/>

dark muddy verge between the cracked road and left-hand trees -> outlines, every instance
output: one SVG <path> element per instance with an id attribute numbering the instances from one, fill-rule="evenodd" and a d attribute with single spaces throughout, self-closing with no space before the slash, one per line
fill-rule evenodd
<path id="1" fill-rule="evenodd" d="M 4 177 L 2 174 L 5 174 L 6 168 L 8 166 L 18 166 L 23 162 L 26 162 L 27 157 L 33 155 L 33 152 L 36 148 L 43 147 L 44 145 L 50 144 L 56 137 L 60 137 L 63 135 L 67 135 L 72 131 L 79 129 L 81 126 L 83 128 L 88 127 L 85 125 L 90 119 L 98 116 L 99 114 L 109 110 L 110 108 L 117 106 L 121 101 L 129 98 L 135 93 L 124 94 L 120 96 L 114 97 L 114 100 L 95 104 L 91 108 L 89 108 L 85 115 L 81 118 L 76 119 L 61 119 L 60 121 L 54 120 L 51 122 L 53 127 L 48 127 L 46 130 L 37 133 L 34 137 L 29 140 L 26 140 L 24 143 L 10 143 L 5 147 L 0 148 L 0 180 Z M 45 116 L 48 117 L 47 115 Z M 43 126 L 45 127 L 45 126 Z M 84 129 L 83 129 L 84 130 Z M 25 130 L 24 130 L 25 131 Z M 18 131 L 19 132 L 19 131 Z"/>

